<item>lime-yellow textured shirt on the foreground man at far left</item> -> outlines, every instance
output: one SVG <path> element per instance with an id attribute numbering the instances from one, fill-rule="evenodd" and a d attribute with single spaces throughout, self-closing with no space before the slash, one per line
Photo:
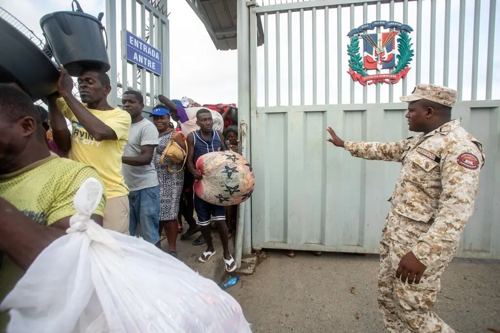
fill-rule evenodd
<path id="1" fill-rule="evenodd" d="M 0 175 L 0 197 L 38 224 L 54 222 L 76 214 L 73 198 L 87 178 L 99 179 L 94 168 L 67 158 L 50 155 L 16 172 Z M 100 179 L 99 179 L 100 180 Z M 94 214 L 103 216 L 104 196 Z M 0 268 L 0 302 L 22 277 L 23 271 L 6 255 Z M 7 323 L 6 312 L 0 313 L 0 332 Z"/>

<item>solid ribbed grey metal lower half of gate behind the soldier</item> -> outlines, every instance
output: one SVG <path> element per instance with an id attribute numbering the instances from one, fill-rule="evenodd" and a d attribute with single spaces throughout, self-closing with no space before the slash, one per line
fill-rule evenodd
<path id="1" fill-rule="evenodd" d="M 252 243 L 263 248 L 378 253 L 400 164 L 351 157 L 325 141 L 391 142 L 406 103 L 258 107 L 252 115 Z M 458 256 L 500 259 L 500 101 L 459 102 L 453 118 L 486 153 L 475 212 Z"/>

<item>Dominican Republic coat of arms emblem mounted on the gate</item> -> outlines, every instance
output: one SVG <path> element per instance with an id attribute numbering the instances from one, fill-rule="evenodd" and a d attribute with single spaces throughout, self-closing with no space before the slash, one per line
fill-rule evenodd
<path id="1" fill-rule="evenodd" d="M 393 28 L 395 31 L 366 33 L 381 26 L 384 29 Z M 373 83 L 394 84 L 404 79 L 409 70 L 409 63 L 413 57 L 408 33 L 413 29 L 395 21 L 373 21 L 363 24 L 349 31 L 347 36 L 350 43 L 347 45 L 349 71 L 352 80 L 362 85 Z M 359 39 L 363 42 L 362 56 L 359 54 Z M 396 54 L 397 45 L 397 54 Z M 397 59 L 397 62 L 396 62 Z M 369 75 L 367 70 L 392 69 L 386 74 Z"/>

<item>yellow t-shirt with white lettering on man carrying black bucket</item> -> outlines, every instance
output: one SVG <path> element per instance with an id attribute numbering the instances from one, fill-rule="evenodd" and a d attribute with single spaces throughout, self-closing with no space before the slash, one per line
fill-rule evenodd
<path id="1" fill-rule="evenodd" d="M 86 104 L 83 106 L 86 107 Z M 87 108 L 90 113 L 109 126 L 118 138 L 117 140 L 95 141 L 78 122 L 64 99 L 57 99 L 57 107 L 71 122 L 72 141 L 69 158 L 91 165 L 97 170 L 104 183 L 107 199 L 127 195 L 128 187 L 121 175 L 121 156 L 130 130 L 131 119 L 128 112 L 118 107 L 108 111 Z"/>

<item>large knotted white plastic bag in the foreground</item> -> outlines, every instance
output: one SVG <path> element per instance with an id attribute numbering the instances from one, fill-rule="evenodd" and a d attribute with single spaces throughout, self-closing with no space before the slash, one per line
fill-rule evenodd
<path id="1" fill-rule="evenodd" d="M 250 332 L 239 304 L 211 280 L 141 239 L 90 220 L 102 193 L 87 179 L 68 235 L 7 295 L 8 333 Z"/>

